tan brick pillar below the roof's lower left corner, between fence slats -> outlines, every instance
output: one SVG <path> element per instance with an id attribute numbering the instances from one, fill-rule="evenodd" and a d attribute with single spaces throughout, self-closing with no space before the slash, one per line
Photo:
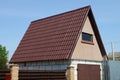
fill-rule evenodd
<path id="1" fill-rule="evenodd" d="M 18 80 L 19 66 L 17 64 L 10 65 L 11 80 Z"/>

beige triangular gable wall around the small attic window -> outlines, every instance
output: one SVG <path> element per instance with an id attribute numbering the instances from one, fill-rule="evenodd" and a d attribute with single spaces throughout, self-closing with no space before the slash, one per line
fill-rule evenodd
<path id="1" fill-rule="evenodd" d="M 82 42 L 82 32 L 92 34 L 93 43 Z M 97 42 L 89 17 L 86 18 L 82 32 L 74 49 L 72 59 L 102 61 L 102 53 L 100 51 L 99 44 Z"/>

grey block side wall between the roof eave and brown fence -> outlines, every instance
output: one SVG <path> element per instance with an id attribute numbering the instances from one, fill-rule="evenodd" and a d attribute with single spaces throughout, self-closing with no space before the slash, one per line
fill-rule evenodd
<path id="1" fill-rule="evenodd" d="M 44 61 L 18 64 L 20 70 L 65 70 L 70 65 L 70 61 Z"/>

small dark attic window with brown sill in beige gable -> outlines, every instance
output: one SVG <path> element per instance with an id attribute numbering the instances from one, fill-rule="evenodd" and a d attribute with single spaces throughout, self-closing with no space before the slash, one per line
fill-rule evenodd
<path id="1" fill-rule="evenodd" d="M 82 42 L 93 44 L 93 35 L 89 33 L 82 32 Z"/>

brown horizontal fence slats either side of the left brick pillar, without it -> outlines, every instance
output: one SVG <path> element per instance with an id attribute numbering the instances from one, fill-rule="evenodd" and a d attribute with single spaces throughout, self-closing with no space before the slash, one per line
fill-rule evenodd
<path id="1" fill-rule="evenodd" d="M 66 70 L 20 70 L 19 80 L 66 80 L 65 72 Z M 10 70 L 0 70 L 0 80 L 10 80 L 9 74 Z"/>

